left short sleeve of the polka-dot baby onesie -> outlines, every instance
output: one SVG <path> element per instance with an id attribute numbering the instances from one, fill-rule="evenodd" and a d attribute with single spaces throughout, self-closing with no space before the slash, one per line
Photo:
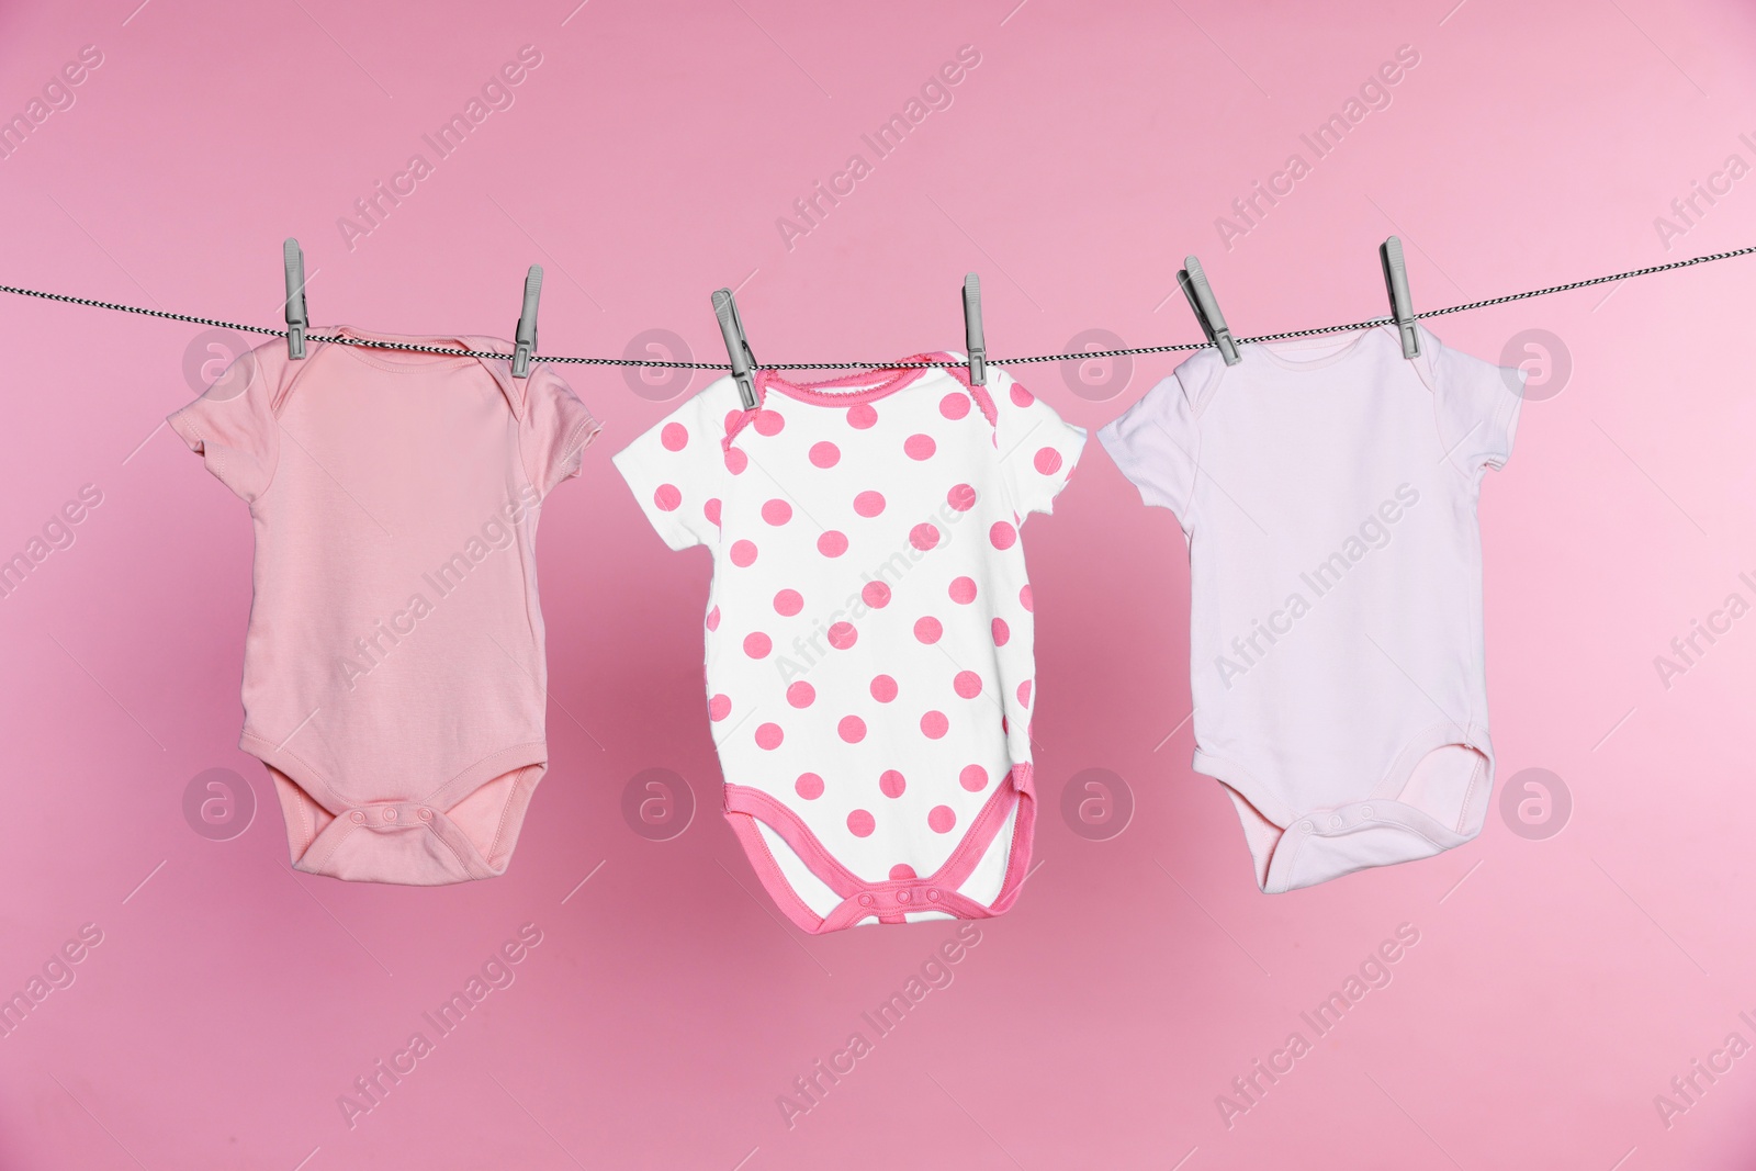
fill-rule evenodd
<path id="1" fill-rule="evenodd" d="M 732 379 L 716 379 L 613 456 L 646 520 L 673 550 L 720 539 L 720 500 L 730 479 L 720 441 L 736 404 Z"/>

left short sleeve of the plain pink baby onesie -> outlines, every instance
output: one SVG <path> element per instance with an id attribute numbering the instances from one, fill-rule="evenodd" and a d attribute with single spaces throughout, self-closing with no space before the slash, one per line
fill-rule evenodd
<path id="1" fill-rule="evenodd" d="M 207 471 L 244 500 L 255 502 L 274 479 L 281 455 L 274 404 L 286 362 L 286 342 L 249 349 L 200 399 L 165 420 Z"/>

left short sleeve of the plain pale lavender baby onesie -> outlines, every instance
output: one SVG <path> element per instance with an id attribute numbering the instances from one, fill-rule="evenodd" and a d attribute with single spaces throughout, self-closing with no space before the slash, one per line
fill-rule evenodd
<path id="1" fill-rule="evenodd" d="M 1171 509 L 1185 527 L 1201 467 L 1194 404 L 1213 377 L 1208 358 L 1199 351 L 1098 432 L 1110 458 L 1140 488 L 1140 499 Z"/>

